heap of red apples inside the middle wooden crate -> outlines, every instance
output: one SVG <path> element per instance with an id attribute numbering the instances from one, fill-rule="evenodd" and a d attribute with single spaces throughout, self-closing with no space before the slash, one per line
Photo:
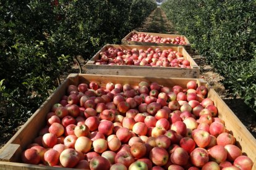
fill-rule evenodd
<path id="1" fill-rule="evenodd" d="M 109 47 L 107 51 L 100 52 L 100 59 L 96 65 L 136 65 L 149 67 L 181 67 L 191 68 L 189 60 L 184 59 L 181 52 L 173 49 L 163 50 L 149 47 L 147 50 L 134 48 L 124 50 Z"/>

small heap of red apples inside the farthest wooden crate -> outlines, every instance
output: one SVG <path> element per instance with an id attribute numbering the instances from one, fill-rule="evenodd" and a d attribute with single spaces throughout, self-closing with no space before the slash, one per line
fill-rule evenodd
<path id="1" fill-rule="evenodd" d="M 165 44 L 179 44 L 187 45 L 187 42 L 182 36 L 177 36 L 176 38 L 163 38 L 161 36 L 153 36 L 145 33 L 134 33 L 130 36 L 128 41 L 139 41 L 139 42 L 156 42 L 156 43 L 165 43 Z"/>

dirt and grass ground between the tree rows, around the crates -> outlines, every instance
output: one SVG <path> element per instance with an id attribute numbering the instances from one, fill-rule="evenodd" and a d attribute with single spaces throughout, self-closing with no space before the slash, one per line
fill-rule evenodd
<path id="1" fill-rule="evenodd" d="M 163 10 L 161 10 L 160 8 L 154 10 L 151 15 L 145 20 L 143 25 L 135 29 L 135 31 L 179 34 L 177 31 L 175 31 L 174 26 L 171 24 L 171 22 L 169 22 Z M 220 97 L 224 100 L 228 107 L 233 110 L 236 116 L 242 121 L 244 126 L 256 138 L 256 113 L 254 113 L 254 111 L 251 110 L 242 99 L 234 99 L 233 97 L 231 97 L 231 95 L 229 95 L 228 89 L 225 89 L 223 84 L 221 84 L 221 80 L 223 80 L 224 78 L 218 75 L 218 73 L 215 73 L 210 65 L 207 65 L 203 56 L 197 54 L 197 52 L 195 52 L 193 49 L 192 52 L 189 52 L 189 54 L 200 67 L 200 78 L 205 79 L 215 89 L 215 91 L 220 95 Z M 79 57 L 79 62 L 82 65 L 82 73 L 85 73 L 84 65 L 87 61 L 83 60 L 82 57 Z M 79 73 L 79 67 L 75 61 L 70 65 L 70 69 L 62 74 L 61 81 L 64 81 L 64 79 L 70 73 Z M 20 129 L 21 126 L 22 123 L 20 123 L 20 126 L 15 128 L 12 132 L 1 132 L 0 148 L 4 144 L 6 144 L 9 139 L 11 139 L 11 137 L 15 134 L 15 132 Z"/>

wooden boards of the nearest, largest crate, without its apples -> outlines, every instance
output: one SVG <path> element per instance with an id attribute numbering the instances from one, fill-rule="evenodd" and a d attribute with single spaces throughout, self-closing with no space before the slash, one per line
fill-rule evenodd
<path id="1" fill-rule="evenodd" d="M 106 83 L 129 83 L 136 86 L 140 81 L 147 81 L 148 83 L 157 82 L 163 86 L 173 87 L 180 85 L 186 87 L 188 81 L 192 78 L 153 78 L 142 76 L 108 76 L 108 75 L 79 75 L 70 74 L 64 83 L 53 92 L 53 94 L 41 105 L 40 108 L 28 119 L 21 129 L 7 142 L 0 150 L 0 169 L 10 170 L 27 170 L 27 169 L 59 169 L 50 168 L 48 166 L 38 166 L 32 164 L 20 163 L 20 155 L 33 139 L 38 136 L 38 132 L 46 125 L 46 115 L 54 103 L 58 103 L 62 95 L 66 94 L 66 89 L 70 84 L 78 85 L 79 83 L 89 83 L 96 81 L 100 86 L 105 86 Z M 236 137 L 237 146 L 242 149 L 244 155 L 249 156 L 254 161 L 253 169 L 256 169 L 256 140 L 245 128 L 244 124 L 234 115 L 233 111 L 223 102 L 213 88 L 207 84 L 203 79 L 194 79 L 198 86 L 205 85 L 208 88 L 208 97 L 213 100 L 218 108 L 218 114 L 224 120 L 226 128 Z M 67 168 L 62 168 L 67 169 Z"/>

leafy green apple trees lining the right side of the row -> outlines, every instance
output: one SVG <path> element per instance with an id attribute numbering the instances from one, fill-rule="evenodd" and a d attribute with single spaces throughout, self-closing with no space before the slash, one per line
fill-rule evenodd
<path id="1" fill-rule="evenodd" d="M 256 111 L 256 2 L 168 0 L 161 7 L 231 92 Z"/>

